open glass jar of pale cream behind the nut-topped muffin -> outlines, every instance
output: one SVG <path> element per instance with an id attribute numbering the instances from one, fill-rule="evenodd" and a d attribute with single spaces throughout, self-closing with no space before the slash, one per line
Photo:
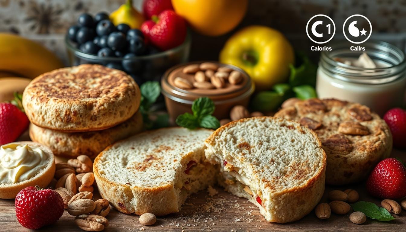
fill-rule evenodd
<path id="1" fill-rule="evenodd" d="M 317 69 L 318 97 L 358 102 L 380 115 L 402 106 L 406 89 L 404 52 L 381 41 L 363 43 L 366 54 L 351 50 L 351 46 L 338 43 L 332 51 L 322 52 Z"/>

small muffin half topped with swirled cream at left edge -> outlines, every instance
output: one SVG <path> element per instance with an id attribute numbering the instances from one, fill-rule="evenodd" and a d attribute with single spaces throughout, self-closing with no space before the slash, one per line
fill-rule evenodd
<path id="1" fill-rule="evenodd" d="M 28 186 L 46 188 L 54 174 L 54 155 L 48 147 L 31 141 L 0 146 L 0 198 L 13 199 Z"/>

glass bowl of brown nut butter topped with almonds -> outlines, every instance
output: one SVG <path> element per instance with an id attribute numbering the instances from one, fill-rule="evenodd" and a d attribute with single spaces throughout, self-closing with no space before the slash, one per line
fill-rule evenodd
<path id="1" fill-rule="evenodd" d="M 247 107 L 254 92 L 251 78 L 242 69 L 215 61 L 190 62 L 167 70 L 161 80 L 162 94 L 172 120 L 189 112 L 197 98 L 210 98 L 218 119 L 229 118 L 235 105 Z"/>

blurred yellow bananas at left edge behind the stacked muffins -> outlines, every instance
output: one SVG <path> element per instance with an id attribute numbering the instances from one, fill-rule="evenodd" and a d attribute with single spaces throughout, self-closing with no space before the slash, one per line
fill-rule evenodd
<path id="1" fill-rule="evenodd" d="M 0 33 L 0 102 L 22 93 L 31 79 L 61 67 L 59 58 L 39 43 Z"/>

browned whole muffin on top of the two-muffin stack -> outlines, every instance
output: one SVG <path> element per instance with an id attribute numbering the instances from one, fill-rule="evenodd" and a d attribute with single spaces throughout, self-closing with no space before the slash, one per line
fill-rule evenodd
<path id="1" fill-rule="evenodd" d="M 63 132 L 104 130 L 129 119 L 140 105 L 140 89 L 125 72 L 79 65 L 44 73 L 23 93 L 28 119 Z"/>

